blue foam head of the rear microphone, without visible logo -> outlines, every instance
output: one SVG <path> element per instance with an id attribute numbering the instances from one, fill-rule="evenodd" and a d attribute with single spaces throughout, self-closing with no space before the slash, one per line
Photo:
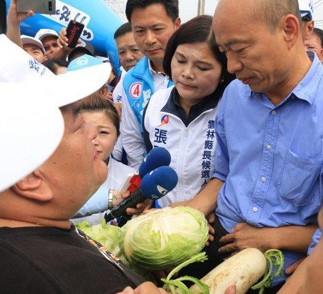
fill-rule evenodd
<path id="1" fill-rule="evenodd" d="M 169 166 L 170 161 L 171 156 L 165 148 L 155 147 L 151 149 L 139 166 L 139 177 L 142 179 L 151 170 L 159 168 L 160 166 Z"/>

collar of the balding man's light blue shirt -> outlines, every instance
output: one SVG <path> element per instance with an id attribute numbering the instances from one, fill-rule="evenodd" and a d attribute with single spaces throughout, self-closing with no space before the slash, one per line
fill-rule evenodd
<path id="1" fill-rule="evenodd" d="M 307 51 L 308 58 L 311 59 L 312 65 L 302 81 L 290 93 L 289 97 L 295 97 L 307 101 L 309 104 L 313 104 L 317 86 L 321 81 L 323 75 L 322 62 L 316 56 L 315 52 Z M 246 96 L 261 99 L 264 93 L 254 92 L 247 87 Z M 286 99 L 284 99 L 285 101 Z"/>

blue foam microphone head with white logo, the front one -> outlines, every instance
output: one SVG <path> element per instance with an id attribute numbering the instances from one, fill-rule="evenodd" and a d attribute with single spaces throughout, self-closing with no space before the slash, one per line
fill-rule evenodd
<path id="1" fill-rule="evenodd" d="M 142 178 L 140 190 L 147 199 L 160 199 L 178 182 L 176 171 L 169 166 L 160 166 Z"/>

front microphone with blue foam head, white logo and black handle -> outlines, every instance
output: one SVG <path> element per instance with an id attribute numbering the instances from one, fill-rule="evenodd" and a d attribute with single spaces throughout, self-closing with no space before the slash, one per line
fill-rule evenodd
<path id="1" fill-rule="evenodd" d="M 104 215 L 106 222 L 110 222 L 116 217 L 127 215 L 127 208 L 135 208 L 137 204 L 146 199 L 157 200 L 173 190 L 178 182 L 176 171 L 169 166 L 160 166 L 144 177 L 142 177 L 141 187 L 136 192 L 131 193 L 127 199 L 122 200 L 113 207 L 109 214 Z"/>

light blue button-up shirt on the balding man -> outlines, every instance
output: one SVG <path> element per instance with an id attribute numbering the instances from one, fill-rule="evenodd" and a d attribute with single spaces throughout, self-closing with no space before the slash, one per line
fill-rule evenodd
<path id="1" fill-rule="evenodd" d="M 278 227 L 317 222 L 322 205 L 323 66 L 313 59 L 278 106 L 239 80 L 216 117 L 213 177 L 225 181 L 216 215 L 226 231 L 247 222 Z M 284 251 L 285 268 L 302 257 Z"/>

